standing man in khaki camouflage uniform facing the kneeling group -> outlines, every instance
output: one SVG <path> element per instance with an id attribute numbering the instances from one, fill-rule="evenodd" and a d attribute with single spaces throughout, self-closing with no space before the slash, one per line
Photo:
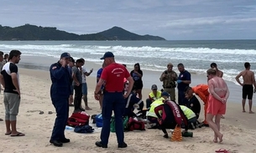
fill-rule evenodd
<path id="1" fill-rule="evenodd" d="M 167 70 L 161 74 L 159 79 L 161 82 L 163 82 L 164 91 L 170 94 L 170 99 L 172 101 L 175 101 L 175 81 L 177 80 L 178 75 L 174 70 L 172 70 L 173 67 L 173 64 L 167 64 Z"/>

